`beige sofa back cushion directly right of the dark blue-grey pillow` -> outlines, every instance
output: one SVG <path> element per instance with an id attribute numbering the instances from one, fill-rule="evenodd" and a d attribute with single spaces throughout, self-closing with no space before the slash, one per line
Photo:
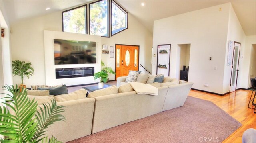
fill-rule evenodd
<path id="1" fill-rule="evenodd" d="M 54 98 L 57 102 L 84 99 L 84 98 L 86 98 L 86 93 L 87 93 L 87 90 L 80 89 L 80 90 L 76 90 L 75 92 L 71 92 L 68 94 L 56 95 L 56 96 L 54 96 Z"/>

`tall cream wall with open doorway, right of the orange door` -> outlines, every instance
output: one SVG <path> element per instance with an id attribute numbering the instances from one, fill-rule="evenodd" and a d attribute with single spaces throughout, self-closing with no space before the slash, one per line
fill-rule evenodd
<path id="1" fill-rule="evenodd" d="M 157 45 L 172 44 L 172 78 L 179 78 L 176 74 L 179 68 L 176 66 L 177 45 L 190 43 L 188 81 L 194 83 L 192 88 L 223 94 L 230 6 L 227 3 L 154 21 L 153 54 L 156 54 Z M 156 73 L 156 57 L 153 57 L 152 73 Z M 205 83 L 209 86 L 204 87 Z"/>

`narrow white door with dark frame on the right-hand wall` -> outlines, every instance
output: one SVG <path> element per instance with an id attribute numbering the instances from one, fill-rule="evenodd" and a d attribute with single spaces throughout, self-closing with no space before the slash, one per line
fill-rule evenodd
<path id="1" fill-rule="evenodd" d="M 236 91 L 236 83 L 238 77 L 238 66 L 239 66 L 239 55 L 240 55 L 240 45 L 239 42 L 234 42 L 234 51 L 233 51 L 233 63 L 231 71 L 231 80 L 230 80 L 230 92 Z"/>

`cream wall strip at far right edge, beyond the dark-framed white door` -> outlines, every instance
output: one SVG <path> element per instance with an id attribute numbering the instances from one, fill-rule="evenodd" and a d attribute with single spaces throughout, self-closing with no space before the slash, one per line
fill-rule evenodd
<path id="1" fill-rule="evenodd" d="M 256 44 L 256 35 L 254 36 L 246 36 L 245 40 L 245 46 L 244 49 L 242 50 L 243 53 L 243 64 L 240 67 L 242 69 L 242 74 L 241 74 L 241 88 L 249 88 L 250 87 L 250 59 L 251 59 L 251 49 L 252 49 L 252 44 Z M 241 56 L 240 56 L 241 57 Z"/>

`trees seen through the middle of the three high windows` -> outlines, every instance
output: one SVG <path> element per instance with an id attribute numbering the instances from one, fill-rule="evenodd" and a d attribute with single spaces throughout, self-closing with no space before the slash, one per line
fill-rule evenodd
<path id="1" fill-rule="evenodd" d="M 109 36 L 109 4 L 108 0 L 101 0 L 89 5 L 90 7 L 90 35 Z"/>

